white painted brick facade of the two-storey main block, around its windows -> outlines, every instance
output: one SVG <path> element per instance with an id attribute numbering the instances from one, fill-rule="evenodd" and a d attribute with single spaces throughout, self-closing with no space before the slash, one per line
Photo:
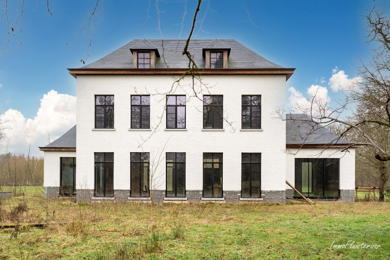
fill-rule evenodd
<path id="1" fill-rule="evenodd" d="M 191 97 L 186 106 L 188 131 L 164 131 L 165 95 L 172 86 L 171 76 L 92 76 L 77 77 L 77 189 L 94 187 L 94 152 L 114 152 L 114 189 L 130 187 L 130 152 L 158 154 L 186 152 L 186 189 L 202 189 L 203 152 L 223 152 L 223 189 L 241 190 L 241 152 L 262 153 L 262 190 L 285 189 L 285 122 L 273 119 L 271 112 L 285 105 L 285 76 L 203 76 L 211 94 L 223 94 L 224 116 L 233 122 L 223 123 L 225 131 L 201 131 L 202 101 Z M 191 94 L 191 78 L 181 82 L 171 94 Z M 153 131 L 128 131 L 130 95 L 151 93 L 151 127 Z M 207 91 L 204 89 L 204 94 Z M 92 131 L 94 95 L 115 95 L 116 131 Z M 239 131 L 241 95 L 262 95 L 262 132 Z M 202 94 L 199 94 L 202 99 Z M 158 123 L 161 124 L 157 127 Z M 142 137 L 141 137 L 142 136 Z M 150 138 L 149 138 L 150 137 Z M 146 142 L 142 141 L 149 138 Z M 162 174 L 158 189 L 165 190 L 165 159 L 157 170 Z"/>

